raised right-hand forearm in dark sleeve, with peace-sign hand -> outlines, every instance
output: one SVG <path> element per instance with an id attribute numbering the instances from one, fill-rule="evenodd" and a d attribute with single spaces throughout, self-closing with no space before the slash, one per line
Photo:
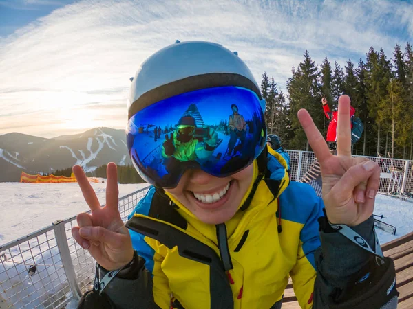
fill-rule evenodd
<path id="1" fill-rule="evenodd" d="M 308 112 L 298 117 L 320 163 L 326 211 L 319 218 L 313 308 L 396 308 L 394 263 L 383 258 L 372 220 L 380 170 L 366 158 L 351 157 L 350 98 L 339 98 L 337 156 Z"/>

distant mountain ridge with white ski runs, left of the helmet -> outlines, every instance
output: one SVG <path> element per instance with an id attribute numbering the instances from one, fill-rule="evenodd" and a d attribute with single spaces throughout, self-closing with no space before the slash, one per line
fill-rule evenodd
<path id="1" fill-rule="evenodd" d="M 125 130 L 94 128 L 52 139 L 21 133 L 0 135 L 0 181 L 19 181 L 22 170 L 35 174 L 81 164 L 92 171 L 109 162 L 131 164 Z"/>

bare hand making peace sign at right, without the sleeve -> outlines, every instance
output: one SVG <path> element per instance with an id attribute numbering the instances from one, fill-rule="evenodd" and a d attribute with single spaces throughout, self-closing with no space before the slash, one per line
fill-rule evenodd
<path id="1" fill-rule="evenodd" d="M 354 226 L 370 218 L 379 188 L 380 168 L 366 158 L 351 157 L 348 95 L 339 98 L 337 156 L 330 153 L 308 111 L 301 109 L 298 118 L 320 163 L 328 220 L 335 224 Z"/>

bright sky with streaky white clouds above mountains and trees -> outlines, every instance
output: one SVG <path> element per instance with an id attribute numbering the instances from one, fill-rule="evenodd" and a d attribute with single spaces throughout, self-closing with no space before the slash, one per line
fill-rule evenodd
<path id="1" fill-rule="evenodd" d="M 0 135 L 125 128 L 129 78 L 176 40 L 220 43 L 285 92 L 308 50 L 343 67 L 413 43 L 412 1 L 0 0 Z"/>

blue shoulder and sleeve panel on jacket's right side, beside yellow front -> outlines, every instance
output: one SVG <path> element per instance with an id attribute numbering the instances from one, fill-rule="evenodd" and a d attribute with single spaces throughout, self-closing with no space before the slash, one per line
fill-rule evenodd
<path id="1" fill-rule="evenodd" d="M 321 246 L 318 218 L 324 216 L 323 200 L 306 183 L 292 181 L 279 196 L 281 218 L 304 225 L 300 231 L 302 248 L 315 268 L 314 252 Z"/>

